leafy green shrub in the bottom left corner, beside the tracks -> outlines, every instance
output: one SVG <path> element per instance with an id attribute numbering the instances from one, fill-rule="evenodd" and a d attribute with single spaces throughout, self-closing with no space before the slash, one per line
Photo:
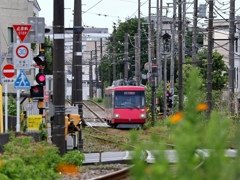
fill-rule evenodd
<path id="1" fill-rule="evenodd" d="M 1 179 L 58 179 L 60 163 L 82 165 L 84 154 L 71 151 L 63 157 L 55 145 L 46 141 L 35 142 L 29 136 L 10 136 L 0 156 Z"/>

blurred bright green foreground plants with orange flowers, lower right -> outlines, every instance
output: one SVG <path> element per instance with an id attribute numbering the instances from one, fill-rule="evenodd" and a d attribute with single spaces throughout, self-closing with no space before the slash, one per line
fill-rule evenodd
<path id="1" fill-rule="evenodd" d="M 180 122 L 173 121 L 174 116 L 165 120 L 172 126 L 169 136 L 175 145 L 176 164 L 170 165 L 168 162 L 164 152 L 167 149 L 166 144 L 163 144 L 158 134 L 152 133 L 150 140 L 142 142 L 137 133 L 133 133 L 131 142 L 136 150 L 133 154 L 135 166 L 131 171 L 132 179 L 238 179 L 240 153 L 236 158 L 225 156 L 228 132 L 231 130 L 229 119 L 216 111 L 207 116 L 205 109 L 199 108 L 200 105 L 205 107 L 199 97 L 202 94 L 202 81 L 199 70 L 192 69 L 186 83 L 187 100 L 184 102 Z M 239 131 L 234 135 L 237 140 Z M 146 149 L 152 152 L 154 164 L 149 165 L 139 159 L 142 157 L 142 150 Z M 208 157 L 203 156 L 204 152 L 201 150 L 208 150 Z"/>

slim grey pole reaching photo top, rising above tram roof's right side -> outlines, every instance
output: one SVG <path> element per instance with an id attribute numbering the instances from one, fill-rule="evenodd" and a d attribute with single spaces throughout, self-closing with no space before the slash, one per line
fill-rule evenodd
<path id="1" fill-rule="evenodd" d="M 140 67 L 141 67 L 141 16 L 140 16 L 140 7 L 141 7 L 141 1 L 138 0 L 138 33 L 137 33 L 137 56 L 136 56 L 136 81 L 137 85 L 141 84 L 141 72 L 140 72 Z"/>

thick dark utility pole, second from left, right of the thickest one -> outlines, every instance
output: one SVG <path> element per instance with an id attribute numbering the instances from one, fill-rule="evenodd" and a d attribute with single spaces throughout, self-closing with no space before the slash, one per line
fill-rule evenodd
<path id="1" fill-rule="evenodd" d="M 78 106 L 78 114 L 83 119 L 82 111 L 82 0 L 74 1 L 74 23 L 73 23 L 73 89 L 74 99 L 73 104 Z M 82 130 L 78 136 L 78 148 L 83 149 Z"/>

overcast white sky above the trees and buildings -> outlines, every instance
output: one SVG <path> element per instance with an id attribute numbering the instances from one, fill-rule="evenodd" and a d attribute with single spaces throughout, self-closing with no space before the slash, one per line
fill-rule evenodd
<path id="1" fill-rule="evenodd" d="M 152 14 L 156 14 L 156 2 L 152 1 Z M 177 0 L 178 1 L 178 0 Z M 186 0 L 187 2 L 193 2 L 193 0 Z M 198 4 L 204 4 L 204 0 L 198 0 Z M 163 0 L 163 6 L 166 7 L 167 3 L 172 3 L 173 0 Z M 45 23 L 48 26 L 52 25 L 53 21 L 53 0 L 38 0 L 41 7 L 39 16 L 45 17 Z M 218 9 L 220 14 L 224 14 L 223 11 L 227 12 L 225 18 L 229 15 L 229 0 L 224 2 L 224 0 L 215 0 L 215 9 Z M 73 26 L 73 5 L 74 0 L 65 0 L 65 27 Z M 148 16 L 148 0 L 141 0 L 141 17 Z M 172 6 L 172 4 L 170 4 Z M 240 1 L 235 1 L 236 15 L 240 15 Z M 187 3 L 187 12 L 193 12 L 193 4 Z M 208 9 L 208 7 L 207 7 Z M 138 0 L 82 0 L 82 25 L 90 27 L 101 27 L 108 28 L 111 33 L 113 28 L 113 23 L 117 23 L 118 19 L 122 22 L 125 21 L 127 17 L 137 17 L 138 16 Z M 84 11 L 86 11 L 84 13 Z M 165 15 L 165 10 L 163 10 L 163 15 Z M 173 9 L 170 8 L 168 12 L 168 17 L 171 17 Z M 177 12 L 178 13 L 178 12 Z M 207 14 L 208 15 L 208 14 Z M 192 19 L 192 14 L 188 14 L 188 17 Z M 220 16 L 217 17 L 221 19 Z"/>

